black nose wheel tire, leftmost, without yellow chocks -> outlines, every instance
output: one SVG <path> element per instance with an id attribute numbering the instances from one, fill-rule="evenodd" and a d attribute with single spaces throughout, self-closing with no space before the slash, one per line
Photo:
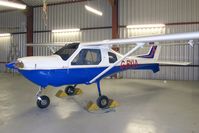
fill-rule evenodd
<path id="1" fill-rule="evenodd" d="M 47 108 L 50 104 L 50 99 L 45 95 L 40 96 L 40 98 L 37 99 L 37 106 L 41 109 Z"/>

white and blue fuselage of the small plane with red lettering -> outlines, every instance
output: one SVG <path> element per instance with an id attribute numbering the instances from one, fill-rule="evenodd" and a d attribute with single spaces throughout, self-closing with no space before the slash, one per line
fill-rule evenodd
<path id="1" fill-rule="evenodd" d="M 93 78 L 120 59 L 122 55 L 104 46 L 65 46 L 51 56 L 24 57 L 17 60 L 18 71 L 33 83 L 47 87 L 68 84 L 90 84 Z M 111 68 L 98 80 L 128 69 L 159 71 L 159 64 L 150 59 L 129 57 Z"/>

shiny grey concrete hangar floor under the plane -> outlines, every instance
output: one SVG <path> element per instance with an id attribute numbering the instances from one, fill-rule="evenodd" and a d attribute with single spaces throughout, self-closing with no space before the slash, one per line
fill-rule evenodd
<path id="1" fill-rule="evenodd" d="M 0 74 L 0 133 L 198 133 L 199 82 L 104 80 L 103 93 L 120 102 L 115 111 L 89 113 L 83 106 L 97 98 L 95 85 L 79 86 L 81 96 L 43 94 L 49 108 L 36 107 L 37 86 L 19 75 Z"/>

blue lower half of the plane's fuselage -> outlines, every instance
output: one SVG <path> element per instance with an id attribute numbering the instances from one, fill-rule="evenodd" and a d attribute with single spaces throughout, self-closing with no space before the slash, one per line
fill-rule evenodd
<path id="1" fill-rule="evenodd" d="M 33 83 L 47 87 L 48 85 L 58 87 L 68 84 L 88 84 L 95 76 L 105 70 L 107 67 L 95 68 L 69 68 L 69 69 L 53 69 L 53 70 L 19 70 L 19 72 L 32 81 Z M 128 68 L 121 68 L 120 66 L 113 67 L 100 79 L 109 76 L 113 73 L 125 71 L 128 69 L 135 70 L 152 70 L 159 71 L 159 64 L 138 64 Z M 99 80 L 100 80 L 99 79 Z"/>

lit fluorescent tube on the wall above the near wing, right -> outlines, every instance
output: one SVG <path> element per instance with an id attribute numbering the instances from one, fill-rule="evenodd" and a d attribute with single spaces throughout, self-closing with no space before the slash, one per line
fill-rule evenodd
<path id="1" fill-rule="evenodd" d="M 128 25 L 126 28 L 163 28 L 165 24 Z"/>

